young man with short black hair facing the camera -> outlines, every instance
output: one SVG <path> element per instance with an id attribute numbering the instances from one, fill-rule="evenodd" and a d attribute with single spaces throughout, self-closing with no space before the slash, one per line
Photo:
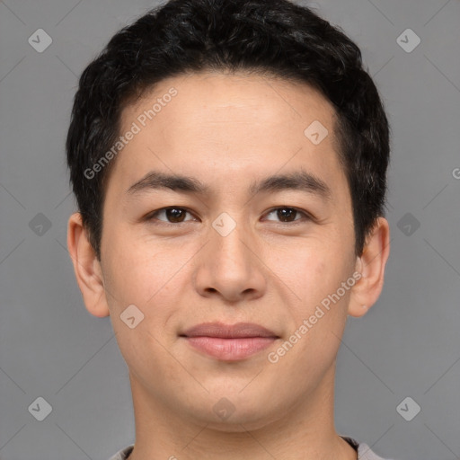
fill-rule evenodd
<path id="1" fill-rule="evenodd" d="M 286 0 L 173 0 L 84 70 L 66 149 L 75 276 L 129 369 L 112 459 L 381 458 L 333 422 L 389 254 L 389 127 L 353 42 Z"/>

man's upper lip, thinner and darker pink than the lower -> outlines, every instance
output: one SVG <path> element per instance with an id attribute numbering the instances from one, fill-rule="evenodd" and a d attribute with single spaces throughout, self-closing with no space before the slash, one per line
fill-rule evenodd
<path id="1" fill-rule="evenodd" d="M 181 333 L 186 337 L 218 337 L 221 339 L 241 339 L 245 337 L 274 337 L 272 332 L 255 323 L 201 323 Z"/>

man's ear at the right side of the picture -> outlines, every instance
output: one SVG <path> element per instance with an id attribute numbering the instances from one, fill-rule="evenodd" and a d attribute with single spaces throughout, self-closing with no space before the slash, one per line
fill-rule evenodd
<path id="1" fill-rule="evenodd" d="M 389 254 L 390 226 L 385 217 L 378 217 L 356 262 L 355 270 L 361 274 L 361 278 L 351 289 L 348 310 L 351 316 L 363 316 L 376 303 L 384 287 L 385 264 Z"/>

